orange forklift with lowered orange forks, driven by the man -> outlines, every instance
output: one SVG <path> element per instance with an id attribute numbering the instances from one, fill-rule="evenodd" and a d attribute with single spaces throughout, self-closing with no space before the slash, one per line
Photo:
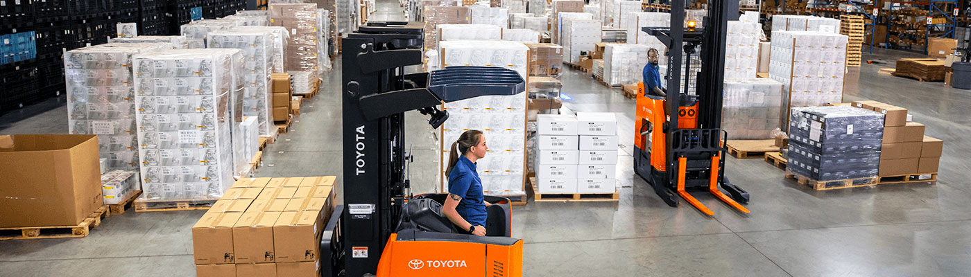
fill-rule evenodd
<path id="1" fill-rule="evenodd" d="M 681 197 L 701 212 L 714 215 L 688 193 L 707 191 L 749 213 L 741 204 L 749 202 L 749 193 L 724 175 L 728 134 L 720 129 L 727 20 L 737 20 L 738 11 L 737 1 L 711 1 L 703 28 L 695 28 L 698 22 L 689 21 L 685 26 L 685 0 L 672 0 L 670 28 L 642 28 L 668 48 L 667 94 L 655 96 L 644 89 L 643 82 L 638 86 L 634 171 L 670 206 L 677 206 Z M 691 54 L 698 47 L 701 72 L 691 79 Z M 695 82 L 696 95 L 682 91 L 682 80 L 685 88 Z M 672 110 L 677 114 L 668 112 Z"/>

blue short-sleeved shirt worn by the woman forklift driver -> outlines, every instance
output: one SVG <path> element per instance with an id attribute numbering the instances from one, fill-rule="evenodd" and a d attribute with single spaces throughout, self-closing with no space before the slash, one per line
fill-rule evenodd
<path id="1" fill-rule="evenodd" d="M 462 198 L 455 207 L 458 215 L 472 226 L 485 227 L 483 181 L 476 171 L 476 164 L 469 161 L 469 158 L 459 157 L 449 173 L 449 193 Z"/>

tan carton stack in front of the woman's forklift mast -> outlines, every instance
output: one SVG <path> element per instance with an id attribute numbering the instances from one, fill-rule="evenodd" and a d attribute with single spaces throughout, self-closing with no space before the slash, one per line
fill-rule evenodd
<path id="1" fill-rule="evenodd" d="M 244 178 L 192 227 L 196 274 L 318 276 L 334 177 Z"/>

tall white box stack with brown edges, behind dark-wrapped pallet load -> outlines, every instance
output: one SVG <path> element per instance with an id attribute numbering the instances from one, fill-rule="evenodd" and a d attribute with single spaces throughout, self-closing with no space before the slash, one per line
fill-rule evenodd
<path id="1" fill-rule="evenodd" d="M 848 37 L 807 31 L 773 31 L 769 77 L 783 83 L 782 113 L 789 107 L 843 102 Z"/>

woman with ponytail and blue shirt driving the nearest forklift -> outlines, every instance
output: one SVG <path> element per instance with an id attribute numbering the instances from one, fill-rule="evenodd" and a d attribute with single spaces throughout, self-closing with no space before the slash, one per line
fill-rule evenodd
<path id="1" fill-rule="evenodd" d="M 504 220 L 505 211 L 499 205 L 492 206 L 484 200 L 482 179 L 476 171 L 476 161 L 485 157 L 488 146 L 482 131 L 469 130 L 452 142 L 449 154 L 449 197 L 442 213 L 459 230 L 480 236 L 503 236 L 505 231 L 498 222 Z M 500 229 L 500 230 L 496 230 Z"/>

